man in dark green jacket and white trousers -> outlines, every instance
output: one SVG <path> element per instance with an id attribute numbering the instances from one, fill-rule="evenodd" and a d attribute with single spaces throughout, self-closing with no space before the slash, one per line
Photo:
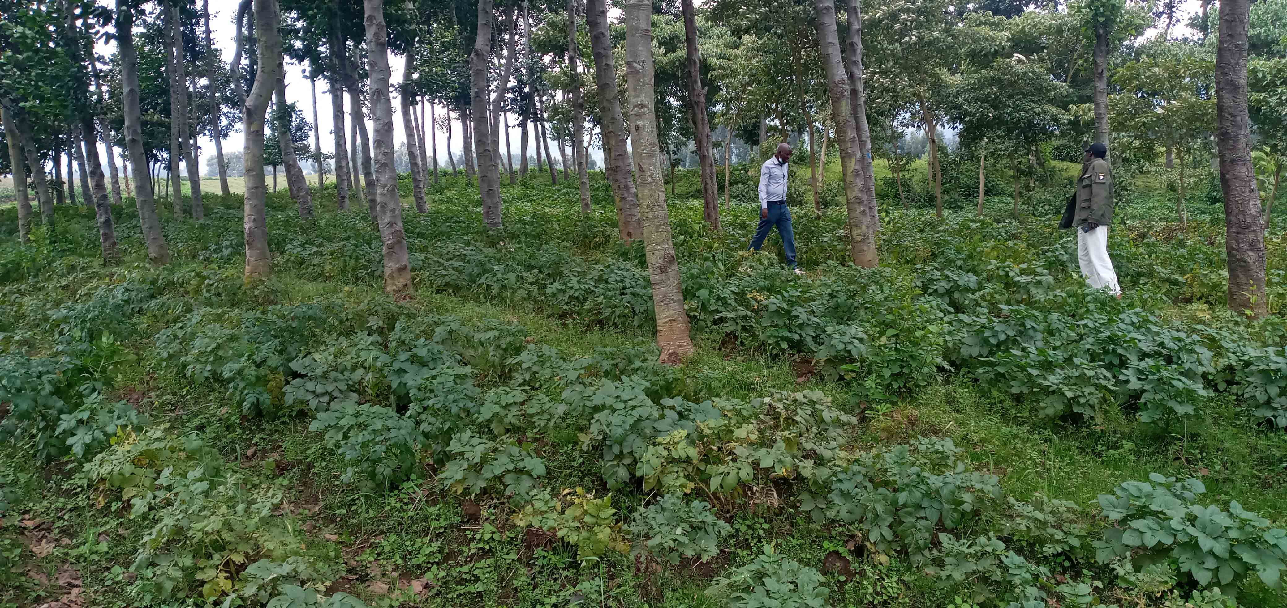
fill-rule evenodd
<path id="1" fill-rule="evenodd" d="M 1077 260 L 1086 283 L 1095 289 L 1122 297 L 1113 261 L 1108 258 L 1108 225 L 1113 221 L 1113 171 L 1104 157 L 1104 144 L 1090 144 L 1082 158 L 1077 190 L 1068 198 L 1059 221 L 1062 229 L 1077 231 Z"/>

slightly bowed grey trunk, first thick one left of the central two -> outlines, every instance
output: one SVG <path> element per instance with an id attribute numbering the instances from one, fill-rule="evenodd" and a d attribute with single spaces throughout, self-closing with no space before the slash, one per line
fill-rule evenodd
<path id="1" fill-rule="evenodd" d="M 470 53 L 470 107 L 474 114 L 474 147 L 479 157 L 479 194 L 483 197 L 483 221 L 490 230 L 501 230 L 501 172 L 492 148 L 490 125 L 486 118 L 486 67 L 492 54 L 492 0 L 479 0 L 477 35 Z M 503 86 L 503 82 L 502 82 Z"/>

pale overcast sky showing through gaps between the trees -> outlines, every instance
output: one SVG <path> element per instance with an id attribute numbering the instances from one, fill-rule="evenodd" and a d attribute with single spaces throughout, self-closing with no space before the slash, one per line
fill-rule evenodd
<path id="1" fill-rule="evenodd" d="M 211 19 L 210 27 L 211 27 L 211 35 L 214 37 L 215 46 L 219 46 L 221 49 L 223 57 L 225 59 L 230 59 L 233 57 L 234 40 L 236 40 L 236 36 L 234 36 L 234 33 L 236 33 L 236 26 L 233 24 L 233 18 L 237 14 L 237 4 L 238 4 L 237 0 L 210 0 L 210 19 Z M 704 3 L 699 1 L 698 4 L 704 4 Z M 1183 0 L 1181 1 L 1181 14 L 1176 19 L 1176 22 L 1179 23 L 1179 26 L 1175 28 L 1175 31 L 1172 31 L 1172 36 L 1189 33 L 1188 28 L 1184 27 L 1183 23 L 1185 23 L 1188 21 L 1189 15 L 1192 15 L 1193 13 L 1196 13 L 1198 10 L 1199 10 L 1199 1 L 1198 0 Z M 616 12 L 614 10 L 613 13 L 616 13 Z M 615 19 L 616 15 L 614 14 L 610 18 Z M 1152 35 L 1152 31 L 1148 32 L 1147 35 Z M 108 55 L 111 53 L 115 53 L 115 50 L 116 50 L 115 49 L 115 42 L 113 44 L 108 44 L 108 45 L 100 44 L 99 48 L 98 48 L 98 53 L 103 54 L 103 55 Z M 390 66 L 393 68 L 391 82 L 395 82 L 395 84 L 400 82 L 402 81 L 402 72 L 403 72 L 402 71 L 402 66 L 403 66 L 403 58 L 402 58 L 402 55 L 390 53 L 389 63 L 390 63 Z M 288 102 L 297 104 L 299 108 L 304 111 L 305 117 L 308 117 L 309 121 L 311 122 L 311 120 L 313 120 L 313 100 L 311 100 L 311 96 L 310 96 L 309 81 L 305 77 L 305 72 L 306 72 L 306 67 L 305 66 L 297 64 L 297 63 L 292 63 L 291 60 L 287 59 L 287 62 L 286 62 L 286 98 L 287 98 Z M 332 153 L 332 152 L 335 152 L 335 139 L 333 139 L 333 135 L 331 135 L 331 130 L 332 130 L 331 129 L 332 127 L 332 125 L 331 125 L 331 96 L 327 94 L 327 91 L 329 89 L 327 87 L 326 81 L 323 81 L 323 80 L 318 81 L 317 87 L 318 87 L 318 129 L 320 131 L 320 138 L 322 138 L 322 149 L 326 150 L 326 152 L 328 152 L 328 153 Z M 346 108 L 345 109 L 345 117 L 347 117 L 349 116 L 349 113 L 347 113 L 347 95 L 345 95 L 345 108 Z M 405 140 L 404 134 L 403 134 L 403 127 L 402 127 L 402 117 L 398 116 L 398 112 L 399 112 L 398 100 L 395 99 L 394 100 L 394 145 L 402 145 L 402 143 Z M 440 114 L 441 114 L 441 108 L 439 108 L 439 116 Z M 519 148 L 519 129 L 516 126 L 514 126 L 515 120 L 516 120 L 515 116 L 510 116 L 510 123 L 511 123 L 511 127 L 510 127 L 510 139 L 511 139 L 514 153 L 517 154 L 519 153 L 519 150 L 517 150 L 517 148 Z M 351 126 L 349 126 L 349 129 L 351 129 Z M 372 129 L 372 125 L 371 125 L 371 121 L 368 120 L 367 121 L 367 130 L 368 130 L 368 132 L 369 132 L 371 129 Z M 427 135 L 426 135 L 426 139 L 427 139 Z M 198 143 L 201 145 L 201 156 L 202 156 L 202 158 L 201 158 L 201 172 L 205 174 L 205 171 L 206 171 L 206 158 L 205 157 L 214 154 L 215 153 L 215 148 L 214 148 L 214 143 L 208 138 L 199 138 Z M 232 135 L 229 135 L 228 139 L 224 140 L 224 152 L 241 150 L 243 143 L 245 143 L 245 140 L 243 140 L 242 131 L 238 129 Z M 461 145 L 462 145 L 462 141 L 461 141 L 461 125 L 459 125 L 458 121 L 453 120 L 453 126 L 452 126 L 452 149 L 457 154 L 459 154 Z M 501 145 L 502 145 L 502 150 L 503 150 L 503 147 L 505 147 L 505 141 L 503 140 L 502 140 Z M 532 144 L 529 144 L 528 156 L 535 156 L 535 150 L 533 150 L 530 148 L 530 145 Z M 102 144 L 99 144 L 99 150 L 102 153 L 102 150 L 103 150 Z M 447 134 L 440 131 L 438 134 L 438 158 L 439 158 L 439 165 L 440 166 L 449 166 L 450 165 L 448 162 L 448 159 L 447 159 L 447 152 L 448 152 L 448 149 L 447 149 Z M 553 141 L 551 141 L 551 152 L 553 152 L 555 158 L 559 158 L 559 150 L 553 149 Z M 120 152 L 117 152 L 117 154 L 120 154 Z M 502 152 L 502 154 L 503 154 L 503 152 Z M 591 150 L 591 157 L 595 158 L 596 162 L 600 163 L 600 166 L 602 166 L 602 152 L 601 150 L 593 150 L 592 149 Z"/>

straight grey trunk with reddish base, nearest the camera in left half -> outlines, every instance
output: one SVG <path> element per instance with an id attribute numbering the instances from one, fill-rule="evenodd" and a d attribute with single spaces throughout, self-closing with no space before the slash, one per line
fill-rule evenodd
<path id="1" fill-rule="evenodd" d="M 484 0 L 486 1 L 486 0 Z M 489 3 L 490 4 L 490 3 Z M 376 194 L 380 198 L 380 239 L 385 249 L 385 292 L 413 291 L 411 257 L 403 234 L 398 171 L 394 170 L 394 103 L 389 96 L 389 30 L 384 0 L 364 0 L 367 72 L 371 73 L 371 114 L 375 118 Z M 481 30 L 481 27 L 480 27 Z"/>

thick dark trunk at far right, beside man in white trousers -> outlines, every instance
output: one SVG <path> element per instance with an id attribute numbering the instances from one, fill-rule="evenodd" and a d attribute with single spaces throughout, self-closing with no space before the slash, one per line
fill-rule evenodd
<path id="1" fill-rule="evenodd" d="M 1250 0 L 1220 0 L 1220 35 L 1215 54 L 1216 149 L 1224 192 L 1229 258 L 1229 310 L 1261 317 L 1265 297 L 1265 237 L 1251 161 L 1247 109 L 1247 30 Z"/>

